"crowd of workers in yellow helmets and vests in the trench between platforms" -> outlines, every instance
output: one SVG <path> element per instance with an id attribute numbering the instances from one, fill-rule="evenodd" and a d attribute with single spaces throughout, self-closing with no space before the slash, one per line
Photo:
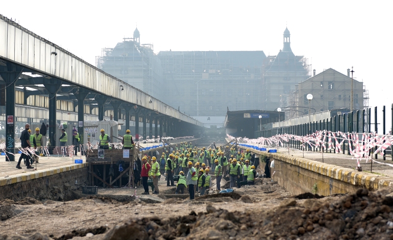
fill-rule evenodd
<path id="1" fill-rule="evenodd" d="M 177 186 L 175 194 L 184 194 L 187 188 L 190 199 L 194 199 L 196 193 L 203 196 L 207 189 L 212 189 L 212 176 L 215 177 L 215 188 L 218 191 L 221 190 L 223 177 L 229 177 L 230 188 L 241 187 L 242 184 L 254 185 L 256 171 L 255 166 L 250 165 L 251 157 L 249 149 L 241 153 L 229 146 L 220 146 L 216 150 L 196 148 L 191 143 L 181 142 L 171 152 L 165 150 L 159 162 L 153 156 L 149 164 L 148 157 L 142 157 L 143 194 L 150 194 L 149 178 L 153 179 L 153 194 L 159 194 L 158 181 L 161 175 L 165 175 L 167 186 Z"/>

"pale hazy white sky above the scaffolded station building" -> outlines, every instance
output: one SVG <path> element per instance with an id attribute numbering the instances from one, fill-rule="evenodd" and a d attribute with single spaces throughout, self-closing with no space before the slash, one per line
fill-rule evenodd
<path id="1" fill-rule="evenodd" d="M 2 1 L 0 14 L 95 65 L 103 47 L 132 37 L 154 51 L 276 55 L 287 26 L 295 55 L 320 73 L 354 67 L 370 106 L 393 103 L 392 1 Z M 382 108 L 380 108 L 382 109 Z"/>

